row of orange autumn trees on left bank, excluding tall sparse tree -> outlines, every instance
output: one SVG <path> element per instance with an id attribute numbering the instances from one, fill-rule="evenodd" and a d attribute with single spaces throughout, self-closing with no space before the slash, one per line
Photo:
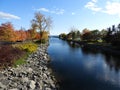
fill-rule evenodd
<path id="1" fill-rule="evenodd" d="M 45 32 L 43 37 L 47 37 Z M 2 23 L 0 25 L 0 41 L 25 41 L 40 39 L 41 36 L 36 32 L 36 27 L 33 26 L 31 29 L 25 30 L 21 28 L 20 30 L 15 30 L 10 22 Z"/>

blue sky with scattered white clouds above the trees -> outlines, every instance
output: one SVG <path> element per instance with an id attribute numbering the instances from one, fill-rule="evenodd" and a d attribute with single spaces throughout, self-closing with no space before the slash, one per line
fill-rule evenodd
<path id="1" fill-rule="evenodd" d="M 29 29 L 37 11 L 52 17 L 51 35 L 68 33 L 73 26 L 101 30 L 120 23 L 120 0 L 0 0 L 0 24 Z"/>

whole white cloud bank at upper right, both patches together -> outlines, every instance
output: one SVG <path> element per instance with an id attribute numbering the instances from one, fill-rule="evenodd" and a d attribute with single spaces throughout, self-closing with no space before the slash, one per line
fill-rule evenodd
<path id="1" fill-rule="evenodd" d="M 98 6 L 98 0 L 91 0 L 85 5 L 85 8 L 90 9 L 94 12 L 106 13 L 109 15 L 120 16 L 120 2 L 118 0 L 107 0 L 105 6 Z"/>

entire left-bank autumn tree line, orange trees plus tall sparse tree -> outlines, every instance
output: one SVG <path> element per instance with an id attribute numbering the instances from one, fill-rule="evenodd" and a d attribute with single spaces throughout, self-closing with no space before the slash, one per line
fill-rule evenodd
<path id="1" fill-rule="evenodd" d="M 2 23 L 0 25 L 0 41 L 47 40 L 51 25 L 50 17 L 45 17 L 40 12 L 36 12 L 28 30 L 24 28 L 15 30 L 11 22 Z"/>

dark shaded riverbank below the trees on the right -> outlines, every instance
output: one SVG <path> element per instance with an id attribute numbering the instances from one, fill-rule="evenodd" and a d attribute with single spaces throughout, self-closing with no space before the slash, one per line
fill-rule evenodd
<path id="1" fill-rule="evenodd" d="M 105 43 L 90 43 L 84 41 L 73 41 L 67 40 L 69 44 L 80 46 L 83 49 L 90 50 L 90 51 L 100 51 L 110 55 L 120 55 L 119 49 L 111 46 L 110 44 Z"/>

